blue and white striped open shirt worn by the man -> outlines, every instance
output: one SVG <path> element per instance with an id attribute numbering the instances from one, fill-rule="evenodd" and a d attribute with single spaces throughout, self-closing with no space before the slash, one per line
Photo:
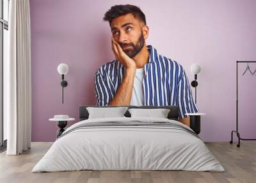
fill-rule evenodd
<path id="1" fill-rule="evenodd" d="M 179 106 L 179 118 L 185 118 L 185 113 L 198 112 L 184 68 L 176 61 L 157 54 L 151 45 L 147 49 L 150 54 L 148 63 L 144 65 L 144 105 Z M 117 60 L 97 70 L 94 82 L 97 106 L 108 106 L 124 74 L 125 67 Z"/>

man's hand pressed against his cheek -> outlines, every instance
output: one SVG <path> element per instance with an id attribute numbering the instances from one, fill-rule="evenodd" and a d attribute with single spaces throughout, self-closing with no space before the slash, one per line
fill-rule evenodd
<path id="1" fill-rule="evenodd" d="M 122 47 L 112 38 L 112 51 L 115 54 L 116 60 L 120 61 L 125 68 L 136 69 L 136 62 L 127 56 L 127 54 L 122 50 Z"/>

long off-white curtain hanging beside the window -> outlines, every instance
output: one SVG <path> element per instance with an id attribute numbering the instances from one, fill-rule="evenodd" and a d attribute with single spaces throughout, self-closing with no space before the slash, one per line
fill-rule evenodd
<path id="1" fill-rule="evenodd" d="M 31 58 L 29 0 L 10 0 L 9 60 L 4 71 L 8 155 L 31 145 Z"/>

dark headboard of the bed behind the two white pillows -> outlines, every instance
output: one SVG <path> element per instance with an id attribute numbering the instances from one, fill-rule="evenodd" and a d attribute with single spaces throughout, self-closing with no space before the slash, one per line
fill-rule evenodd
<path id="1" fill-rule="evenodd" d="M 86 110 L 86 107 L 120 107 L 120 106 L 81 106 L 79 107 L 79 121 L 87 120 L 89 113 Z M 179 117 L 179 107 L 178 106 L 125 106 L 131 108 L 140 108 L 140 109 L 159 109 L 159 108 L 165 108 L 170 109 L 170 112 L 168 113 L 168 119 L 170 120 L 178 120 Z M 131 117 L 131 114 L 127 110 L 124 114 L 126 117 Z"/>

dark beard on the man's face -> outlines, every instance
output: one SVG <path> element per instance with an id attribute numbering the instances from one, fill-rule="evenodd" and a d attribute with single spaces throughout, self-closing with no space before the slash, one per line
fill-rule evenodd
<path id="1" fill-rule="evenodd" d="M 144 43 L 145 43 L 145 39 L 143 37 L 143 33 L 141 31 L 141 35 L 140 35 L 140 38 L 138 38 L 138 41 L 136 42 L 136 44 L 123 44 L 121 43 L 120 46 L 121 47 L 124 47 L 124 46 L 131 46 L 132 48 L 131 49 L 125 49 L 123 50 L 125 52 L 125 54 L 127 54 L 127 56 L 129 56 L 130 58 L 134 58 L 134 56 L 136 56 L 136 54 L 138 54 L 141 49 L 143 48 L 144 46 Z"/>

